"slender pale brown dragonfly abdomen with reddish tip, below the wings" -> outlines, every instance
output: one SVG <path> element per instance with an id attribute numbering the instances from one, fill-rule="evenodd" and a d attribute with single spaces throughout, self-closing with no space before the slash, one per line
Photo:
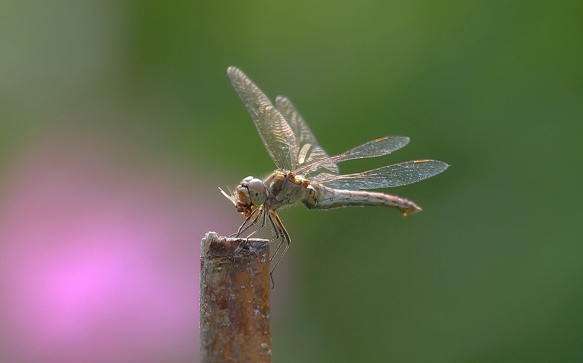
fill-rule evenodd
<path id="1" fill-rule="evenodd" d="M 395 208 L 407 215 L 418 212 L 421 208 L 406 198 L 376 193 L 366 190 L 332 189 L 319 184 L 307 188 L 308 197 L 305 205 L 308 208 L 340 208 L 350 205 L 370 205 L 374 207 Z"/>

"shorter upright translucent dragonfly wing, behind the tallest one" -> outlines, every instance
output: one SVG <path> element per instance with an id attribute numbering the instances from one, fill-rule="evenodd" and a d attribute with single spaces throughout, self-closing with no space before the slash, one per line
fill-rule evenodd
<path id="1" fill-rule="evenodd" d="M 278 96 L 275 99 L 275 103 L 278 106 L 280 113 L 282 113 L 283 117 L 285 117 L 289 123 L 291 131 L 296 136 L 298 149 L 297 165 L 294 165 L 291 170 L 318 160 L 329 158 L 329 155 L 324 149 L 318 145 L 316 137 L 308 127 L 308 124 L 305 123 L 304 118 L 298 113 L 293 103 L 291 103 L 291 101 L 285 96 Z M 315 177 L 318 175 L 338 175 L 338 173 L 338 165 L 330 163 L 327 165 L 321 165 L 317 169 L 312 169 L 309 173 L 304 174 L 304 176 Z"/>

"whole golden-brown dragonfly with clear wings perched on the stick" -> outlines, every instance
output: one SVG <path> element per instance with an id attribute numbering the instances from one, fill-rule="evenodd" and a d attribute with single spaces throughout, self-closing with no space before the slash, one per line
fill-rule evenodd
<path id="1" fill-rule="evenodd" d="M 270 263 L 285 245 L 271 273 L 290 246 L 290 236 L 277 214 L 279 208 L 297 203 L 315 210 L 371 205 L 395 208 L 408 215 L 421 211 L 421 207 L 406 198 L 368 190 L 416 183 L 444 172 L 449 166 L 438 160 L 419 159 L 361 173 L 340 174 L 338 163 L 388 155 L 407 145 L 409 138 L 384 136 L 329 156 L 287 97 L 278 96 L 273 106 L 265 93 L 240 69 L 229 67 L 227 74 L 277 169 L 263 180 L 245 177 L 230 194 L 220 187 L 219 190 L 245 217 L 231 237 L 239 237 L 251 230 L 248 239 L 269 223 L 274 238 L 268 244 L 279 240 Z"/>

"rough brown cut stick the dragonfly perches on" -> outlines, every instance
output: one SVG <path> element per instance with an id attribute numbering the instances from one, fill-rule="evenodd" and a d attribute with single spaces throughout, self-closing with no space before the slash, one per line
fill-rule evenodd
<path id="1" fill-rule="evenodd" d="M 202 240 L 202 362 L 271 362 L 268 240 L 245 240 Z"/>

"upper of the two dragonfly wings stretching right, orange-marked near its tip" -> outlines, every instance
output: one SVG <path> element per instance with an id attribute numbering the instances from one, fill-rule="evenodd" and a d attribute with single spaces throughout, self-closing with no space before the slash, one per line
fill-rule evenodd
<path id="1" fill-rule="evenodd" d="M 407 144 L 409 144 L 409 138 L 406 136 L 380 137 L 356 146 L 356 148 L 352 148 L 339 155 L 330 156 L 329 158 L 317 160 L 311 164 L 299 167 L 294 172 L 300 175 L 307 175 L 323 166 L 336 165 L 336 163 L 346 160 L 376 158 L 377 156 L 384 156 L 397 151 Z"/>

